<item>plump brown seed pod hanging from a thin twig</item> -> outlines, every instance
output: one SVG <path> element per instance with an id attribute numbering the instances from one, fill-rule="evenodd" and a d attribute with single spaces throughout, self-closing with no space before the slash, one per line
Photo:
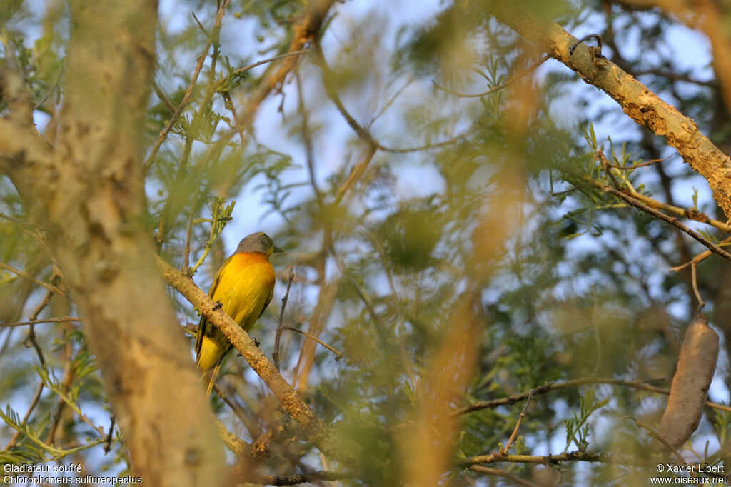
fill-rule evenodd
<path id="1" fill-rule="evenodd" d="M 718 358 L 719 336 L 704 317 L 695 318 L 686 330 L 660 420 L 659 433 L 673 448 L 681 448 L 698 427 Z"/>

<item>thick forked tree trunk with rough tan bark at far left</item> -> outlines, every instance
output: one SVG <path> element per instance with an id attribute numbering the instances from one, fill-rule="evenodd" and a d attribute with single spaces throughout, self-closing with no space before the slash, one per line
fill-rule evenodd
<path id="1" fill-rule="evenodd" d="M 0 169 L 18 189 L 80 315 L 129 449 L 150 486 L 216 485 L 223 454 L 189 344 L 155 265 L 140 127 L 155 1 L 73 1 L 58 142 L 34 133 L 6 50 Z"/>

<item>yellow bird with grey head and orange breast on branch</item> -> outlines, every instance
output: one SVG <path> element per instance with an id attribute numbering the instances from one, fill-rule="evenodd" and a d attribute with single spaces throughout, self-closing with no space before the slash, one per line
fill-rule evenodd
<path id="1" fill-rule="evenodd" d="M 213 278 L 208 295 L 221 303 L 221 309 L 246 332 L 251 330 L 272 299 L 276 276 L 269 256 L 282 252 L 265 233 L 252 233 L 243 238 L 236 252 L 229 257 Z M 195 339 L 195 363 L 202 372 L 213 369 L 206 396 L 221 368 L 221 361 L 231 350 L 222 331 L 205 317 L 200 317 Z"/>

